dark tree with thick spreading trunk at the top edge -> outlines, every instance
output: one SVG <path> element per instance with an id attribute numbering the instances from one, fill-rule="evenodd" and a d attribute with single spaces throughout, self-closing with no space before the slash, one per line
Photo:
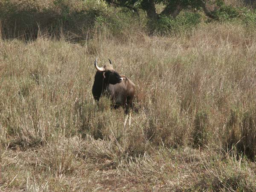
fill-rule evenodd
<path id="1" fill-rule="evenodd" d="M 147 13 L 150 20 L 157 20 L 162 15 L 177 17 L 181 10 L 186 8 L 203 8 L 205 14 L 216 19 L 215 16 L 207 9 L 206 0 L 105 0 L 107 3 L 114 6 L 126 7 L 137 12 L 138 9 L 143 9 Z M 162 3 L 165 8 L 161 13 L 156 12 L 155 5 Z"/>

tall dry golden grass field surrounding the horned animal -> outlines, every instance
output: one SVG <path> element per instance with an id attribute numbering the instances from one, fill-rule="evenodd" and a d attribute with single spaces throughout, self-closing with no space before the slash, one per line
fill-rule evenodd
<path id="1" fill-rule="evenodd" d="M 0 42 L 1 189 L 69 190 L 61 185 L 76 185 L 78 180 L 70 183 L 67 178 L 81 177 L 78 167 L 116 169 L 120 175 L 125 170 L 130 172 L 127 177 L 134 177 L 133 167 L 139 164 L 143 178 L 151 178 L 155 186 L 163 182 L 166 190 L 184 189 L 185 177 L 185 183 L 174 183 L 166 172 L 169 168 L 162 170 L 165 176 L 154 168 L 162 162 L 154 158 L 162 158 L 165 150 L 211 148 L 220 155 L 212 161 L 215 163 L 229 153 L 254 159 L 254 35 L 239 24 L 216 23 L 201 25 L 189 36 L 139 35 L 122 43 L 104 31 L 82 45 L 46 36 L 26 44 Z M 111 58 L 114 69 L 136 84 L 131 127 L 123 128 L 123 110 L 112 110 L 108 99 L 103 98 L 99 106 L 93 101 L 96 56 L 102 65 Z M 162 147 L 154 157 L 154 148 Z M 183 162 L 185 154 L 180 153 Z M 12 164 L 4 162 L 6 158 L 12 161 L 14 154 L 21 156 L 21 164 L 10 169 Z M 171 154 L 165 155 L 164 162 Z M 231 182 L 232 175 L 226 177 L 223 174 L 228 173 L 205 163 L 205 170 L 217 174 L 215 178 L 228 177 L 226 182 Z M 187 166 L 193 169 L 193 163 Z M 246 166 L 246 170 L 252 169 L 250 164 Z M 246 170 L 243 174 L 252 174 Z M 35 178 L 38 172 L 44 173 L 47 183 Z M 50 177 L 58 184 L 53 185 Z M 143 183 L 143 178 L 139 182 Z M 238 189 L 227 183 L 214 184 L 215 178 L 193 187 Z M 238 185 L 253 187 L 248 182 Z M 90 189 L 84 183 L 81 186 Z"/>

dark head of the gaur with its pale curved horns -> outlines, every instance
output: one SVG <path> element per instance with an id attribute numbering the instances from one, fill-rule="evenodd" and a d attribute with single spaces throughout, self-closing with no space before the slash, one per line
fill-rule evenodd
<path id="1" fill-rule="evenodd" d="M 122 77 L 117 73 L 115 70 L 113 70 L 113 66 L 111 64 L 110 59 L 109 63 L 110 64 L 105 64 L 103 67 L 99 67 L 97 65 L 97 58 L 95 59 L 94 66 L 97 70 L 96 75 L 98 73 L 99 76 L 102 76 L 105 82 L 109 84 L 117 84 L 122 81 Z"/>

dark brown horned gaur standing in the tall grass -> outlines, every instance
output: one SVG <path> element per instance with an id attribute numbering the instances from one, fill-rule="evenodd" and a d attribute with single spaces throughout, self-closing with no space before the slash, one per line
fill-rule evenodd
<path id="1" fill-rule="evenodd" d="M 97 58 L 94 66 L 96 74 L 93 83 L 93 97 L 98 102 L 102 95 L 109 96 L 113 103 L 113 107 L 122 106 L 125 113 L 129 113 L 134 97 L 135 85 L 124 75 L 119 75 L 111 64 L 105 64 L 103 67 L 98 67 Z M 126 121 L 125 121 L 126 122 Z"/>

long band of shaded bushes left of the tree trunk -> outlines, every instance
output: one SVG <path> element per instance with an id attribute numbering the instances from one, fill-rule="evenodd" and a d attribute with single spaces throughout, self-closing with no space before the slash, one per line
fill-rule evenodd
<path id="1" fill-rule="evenodd" d="M 122 36 L 127 31 L 125 29 L 138 26 L 134 25 L 138 17 L 131 10 L 113 8 L 103 0 L 79 1 L 76 4 L 68 0 L 54 0 L 49 6 L 37 3 L 10 0 L 0 3 L 3 37 L 31 40 L 37 38 L 40 28 L 54 37 L 71 32 L 73 37 L 69 40 L 74 41 L 91 38 L 101 29 L 109 30 L 114 36 Z"/>

